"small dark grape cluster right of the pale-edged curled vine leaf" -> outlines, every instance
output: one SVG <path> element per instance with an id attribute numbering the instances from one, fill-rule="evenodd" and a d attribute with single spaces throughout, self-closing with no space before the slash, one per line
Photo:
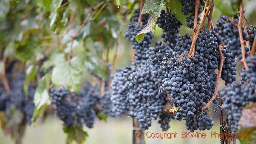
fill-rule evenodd
<path id="1" fill-rule="evenodd" d="M 168 42 L 170 46 L 174 46 L 177 41 L 179 28 L 182 25 L 180 21 L 174 15 L 171 15 L 171 12 L 165 13 L 162 10 L 157 19 L 157 24 L 164 30 L 164 33 L 161 35 L 163 42 Z"/>

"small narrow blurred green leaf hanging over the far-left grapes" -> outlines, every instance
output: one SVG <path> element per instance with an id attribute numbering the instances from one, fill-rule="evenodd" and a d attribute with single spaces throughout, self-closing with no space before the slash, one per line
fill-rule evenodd
<path id="1" fill-rule="evenodd" d="M 28 86 L 30 81 L 34 81 L 36 76 L 36 66 L 35 65 L 30 65 L 28 66 L 26 70 L 26 79 L 23 84 L 23 90 L 24 94 L 27 97 L 28 96 Z"/>

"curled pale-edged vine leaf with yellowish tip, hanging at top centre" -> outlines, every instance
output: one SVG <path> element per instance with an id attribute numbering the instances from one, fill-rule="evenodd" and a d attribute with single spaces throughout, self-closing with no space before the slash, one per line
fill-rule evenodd
<path id="1" fill-rule="evenodd" d="M 141 42 L 146 33 L 154 28 L 156 30 L 156 20 L 160 16 L 161 10 L 165 7 L 166 1 L 164 0 L 146 0 L 142 8 L 142 14 L 150 13 L 147 25 L 136 35 L 137 42 Z"/>

